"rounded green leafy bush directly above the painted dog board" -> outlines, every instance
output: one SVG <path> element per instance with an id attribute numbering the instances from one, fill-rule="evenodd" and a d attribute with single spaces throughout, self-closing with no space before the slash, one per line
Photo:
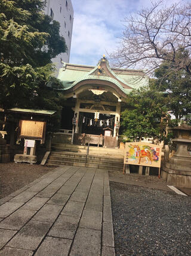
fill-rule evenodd
<path id="1" fill-rule="evenodd" d="M 127 109 L 122 112 L 124 135 L 130 140 L 141 137 L 161 137 L 161 117 L 166 115 L 164 94 L 150 88 L 140 88 L 128 95 Z"/>

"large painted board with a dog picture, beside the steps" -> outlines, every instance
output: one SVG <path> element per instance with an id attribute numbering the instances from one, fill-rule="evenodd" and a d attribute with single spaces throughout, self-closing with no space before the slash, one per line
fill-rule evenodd
<path id="1" fill-rule="evenodd" d="M 124 164 L 161 167 L 162 146 L 141 142 L 125 143 Z"/>

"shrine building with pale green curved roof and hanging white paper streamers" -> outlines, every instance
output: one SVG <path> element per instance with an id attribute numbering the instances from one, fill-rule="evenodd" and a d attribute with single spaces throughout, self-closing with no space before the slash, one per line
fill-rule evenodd
<path id="1" fill-rule="evenodd" d="M 58 79 L 66 97 L 61 131 L 71 134 L 74 144 L 82 134 L 109 136 L 113 147 L 120 134 L 127 94 L 149 82 L 143 70 L 110 68 L 104 56 L 96 67 L 64 63 Z"/>

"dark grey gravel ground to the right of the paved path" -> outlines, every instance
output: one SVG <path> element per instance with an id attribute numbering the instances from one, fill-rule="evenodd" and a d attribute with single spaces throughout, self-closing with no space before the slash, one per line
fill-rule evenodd
<path id="1" fill-rule="evenodd" d="M 191 255 L 191 197 L 110 182 L 116 255 Z"/>

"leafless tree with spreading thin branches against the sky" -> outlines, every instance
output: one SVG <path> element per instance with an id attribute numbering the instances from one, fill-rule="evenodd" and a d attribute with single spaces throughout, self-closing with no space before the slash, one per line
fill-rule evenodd
<path id="1" fill-rule="evenodd" d="M 160 0 L 150 6 L 125 19 L 121 44 L 110 55 L 114 65 L 153 73 L 166 61 L 191 74 L 191 4 L 168 7 Z"/>

